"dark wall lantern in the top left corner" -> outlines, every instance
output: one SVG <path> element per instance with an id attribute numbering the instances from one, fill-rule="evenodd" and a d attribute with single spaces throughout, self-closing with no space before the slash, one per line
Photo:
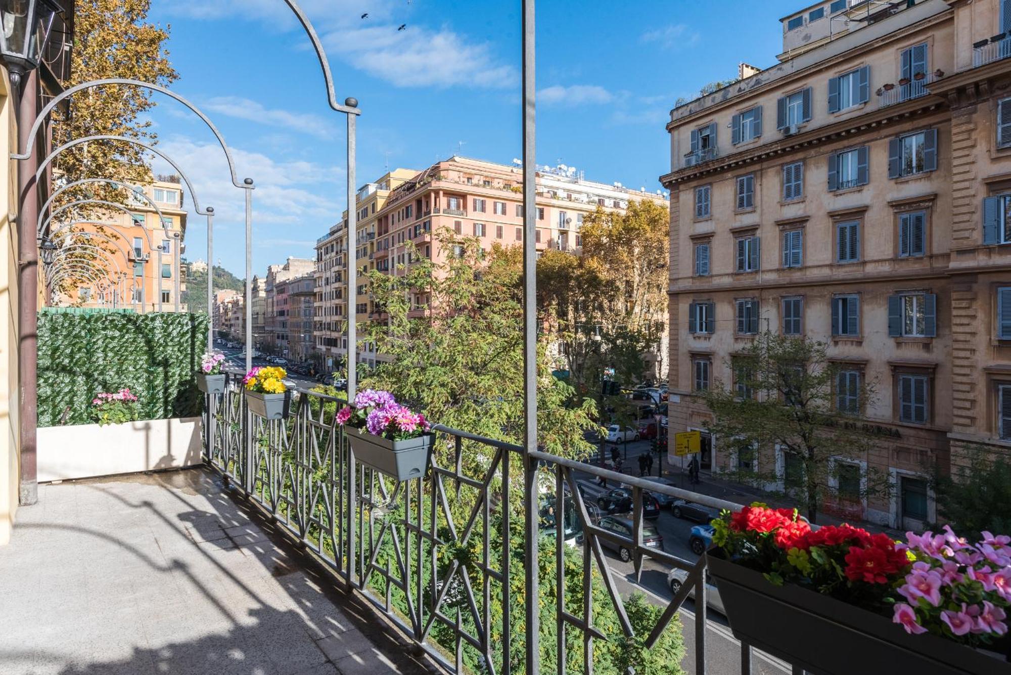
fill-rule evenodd
<path id="1" fill-rule="evenodd" d="M 24 73 L 38 68 L 57 11 L 51 0 L 0 0 L 0 57 L 15 86 Z"/>

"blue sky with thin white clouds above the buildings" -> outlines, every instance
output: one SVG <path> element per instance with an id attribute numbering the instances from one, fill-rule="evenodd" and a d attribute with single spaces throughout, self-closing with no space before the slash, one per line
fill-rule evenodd
<path id="1" fill-rule="evenodd" d="M 327 47 L 338 98 L 360 101 L 359 185 L 387 164 L 424 169 L 458 151 L 502 163 L 520 156 L 519 0 L 300 4 Z M 673 101 L 734 77 L 739 62 L 772 65 L 777 19 L 802 4 L 541 0 L 538 164 L 655 191 L 669 166 L 664 123 Z M 746 20 L 728 29 L 729 16 Z M 150 18 L 171 24 L 180 74 L 172 88 L 218 126 L 240 178 L 256 181 L 254 273 L 311 257 L 346 205 L 346 127 L 290 10 L 282 0 L 154 0 Z M 202 122 L 163 101 L 151 114 L 160 147 L 217 213 L 215 260 L 243 276 L 243 191 Z M 206 257 L 201 216 L 191 213 L 186 240 L 186 258 Z"/>

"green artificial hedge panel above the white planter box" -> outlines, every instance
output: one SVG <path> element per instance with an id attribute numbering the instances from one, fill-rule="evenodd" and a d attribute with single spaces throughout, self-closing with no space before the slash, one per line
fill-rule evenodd
<path id="1" fill-rule="evenodd" d="M 206 348 L 206 314 L 38 314 L 38 425 L 88 424 L 95 394 L 123 387 L 141 419 L 199 415 L 194 373 Z"/>

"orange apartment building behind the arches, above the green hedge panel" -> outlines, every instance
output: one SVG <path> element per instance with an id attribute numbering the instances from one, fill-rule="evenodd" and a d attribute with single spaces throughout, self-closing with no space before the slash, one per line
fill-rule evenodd
<path id="1" fill-rule="evenodd" d="M 78 242 L 87 239 L 87 246 L 103 249 L 108 255 L 99 254 L 101 262 L 91 263 L 103 273 L 103 281 L 81 283 L 69 293 L 56 293 L 49 298 L 50 304 L 176 311 L 179 301 L 179 311 L 187 311 L 181 303 L 186 290 L 181 256 L 187 211 L 179 178 L 160 176 L 139 187 L 151 201 L 130 195 L 125 203 L 128 212 L 110 210 L 89 218 L 93 222 L 53 226 L 58 245 L 73 231 L 79 233 Z"/>

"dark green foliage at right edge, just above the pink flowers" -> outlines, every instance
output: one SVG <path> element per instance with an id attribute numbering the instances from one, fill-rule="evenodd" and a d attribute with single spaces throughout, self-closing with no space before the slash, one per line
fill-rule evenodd
<path id="1" fill-rule="evenodd" d="M 1002 451 L 971 446 L 968 462 L 934 480 L 937 512 L 970 541 L 984 529 L 1011 532 L 1011 460 Z"/>

